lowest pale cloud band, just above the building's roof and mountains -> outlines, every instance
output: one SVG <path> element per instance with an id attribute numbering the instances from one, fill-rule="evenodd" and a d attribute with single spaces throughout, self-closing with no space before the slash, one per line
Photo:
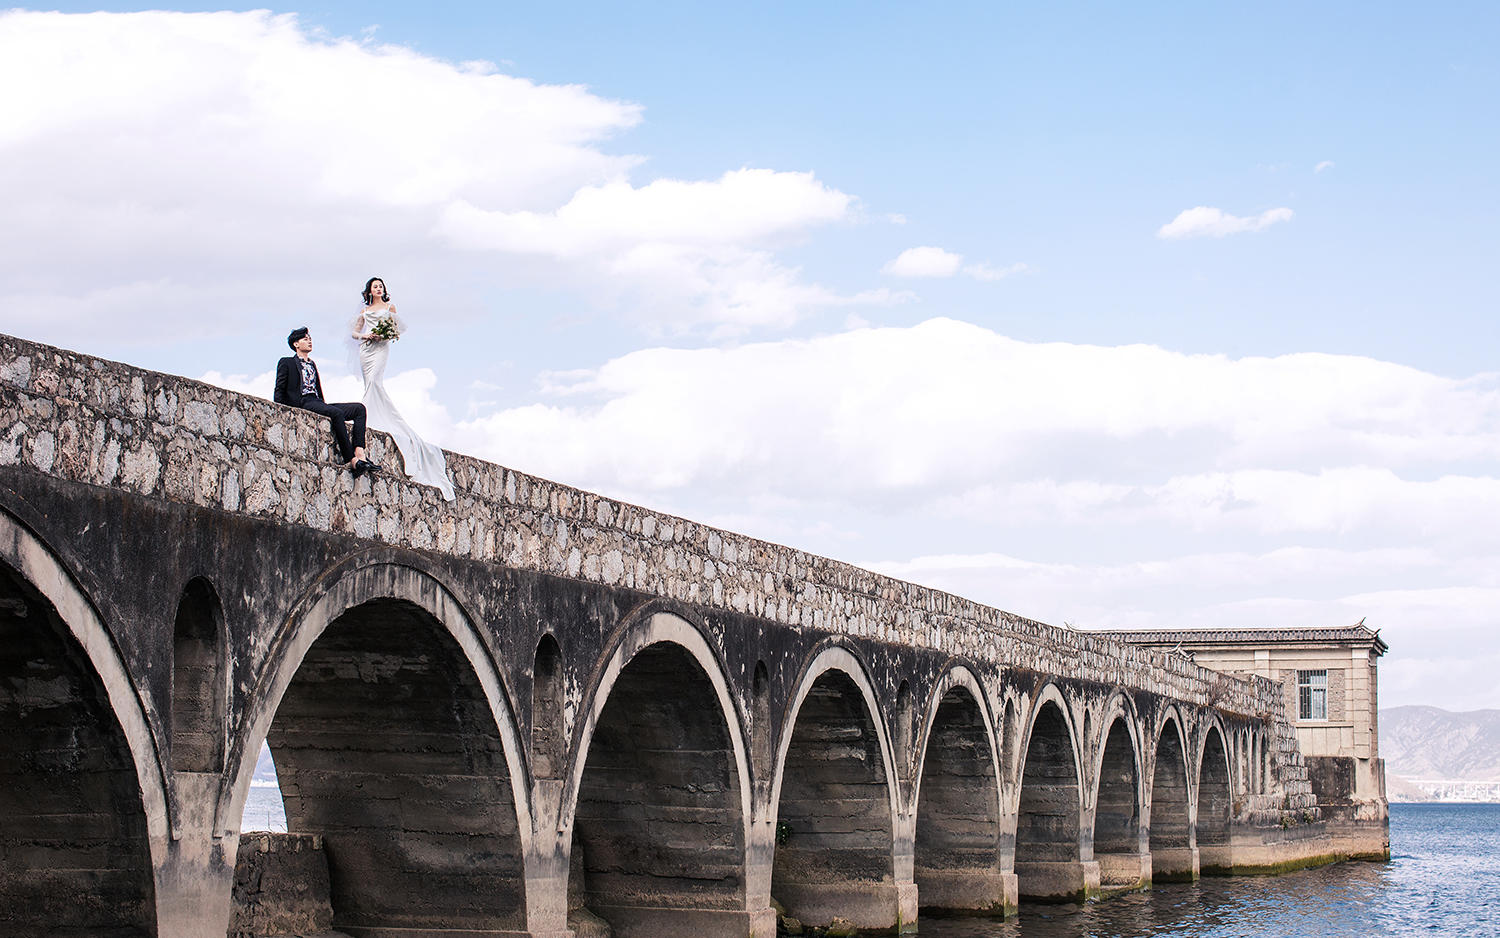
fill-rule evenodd
<path id="1" fill-rule="evenodd" d="M 1476 662 L 1500 611 L 1486 555 L 1452 564 L 1422 546 L 1282 548 L 1263 554 L 1184 554 L 1162 560 L 1041 563 L 1006 554 L 928 555 L 872 569 L 1086 629 L 1346 626 L 1364 618 L 1390 645 L 1383 707 L 1500 707 L 1500 687 Z M 1470 585 L 1452 585 L 1467 581 Z M 1376 584 L 1376 588 L 1366 585 Z M 1382 584 L 1416 584 L 1380 588 Z M 1236 599 L 1226 599 L 1236 597 Z M 1464 680 L 1474 678 L 1474 680 Z"/>

